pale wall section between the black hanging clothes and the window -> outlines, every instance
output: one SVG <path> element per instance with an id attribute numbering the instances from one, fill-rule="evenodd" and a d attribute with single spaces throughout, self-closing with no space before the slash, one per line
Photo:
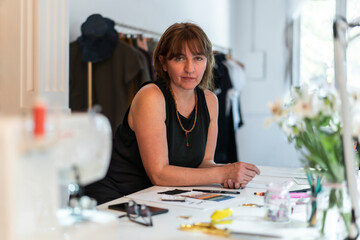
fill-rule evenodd
<path id="1" fill-rule="evenodd" d="M 263 78 L 248 78 L 241 95 L 245 122 L 237 133 L 241 161 L 272 166 L 301 165 L 296 151 L 279 128 L 264 127 L 265 119 L 270 117 L 268 102 L 280 98 L 286 90 L 283 34 L 286 6 L 287 0 L 243 0 L 234 7 L 238 11 L 238 27 L 232 39 L 235 58 L 246 63 L 249 53 L 262 52 L 265 63 L 256 66 L 263 67 Z M 252 7 L 255 7 L 254 16 Z"/>

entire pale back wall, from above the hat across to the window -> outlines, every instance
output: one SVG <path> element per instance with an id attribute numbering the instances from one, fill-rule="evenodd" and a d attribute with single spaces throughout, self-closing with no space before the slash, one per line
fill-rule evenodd
<path id="1" fill-rule="evenodd" d="M 263 77 L 248 79 L 241 96 L 245 125 L 237 132 L 239 159 L 261 165 L 299 166 L 293 147 L 277 126 L 263 127 L 270 116 L 268 101 L 284 92 L 286 1 L 72 0 L 70 41 L 80 36 L 80 26 L 89 15 L 100 13 L 116 22 L 160 33 L 175 22 L 195 22 L 213 44 L 230 47 L 233 57 L 244 63 L 247 54 L 263 53 L 264 66 L 255 66 L 263 70 Z M 249 64 L 257 63 L 247 64 L 250 68 Z"/>

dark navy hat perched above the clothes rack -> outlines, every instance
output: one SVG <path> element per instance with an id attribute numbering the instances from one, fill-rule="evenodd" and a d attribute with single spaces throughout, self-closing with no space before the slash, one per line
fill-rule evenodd
<path id="1" fill-rule="evenodd" d="M 110 57 L 119 35 L 114 21 L 100 14 L 90 15 L 81 25 L 81 36 L 77 39 L 85 62 L 100 62 Z"/>

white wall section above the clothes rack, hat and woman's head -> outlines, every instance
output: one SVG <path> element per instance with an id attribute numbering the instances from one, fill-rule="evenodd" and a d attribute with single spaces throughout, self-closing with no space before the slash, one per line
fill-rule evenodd
<path id="1" fill-rule="evenodd" d="M 175 22 L 200 25 L 213 43 L 229 45 L 230 0 L 72 0 L 70 41 L 81 35 L 86 18 L 99 13 L 128 25 L 162 33 Z"/>

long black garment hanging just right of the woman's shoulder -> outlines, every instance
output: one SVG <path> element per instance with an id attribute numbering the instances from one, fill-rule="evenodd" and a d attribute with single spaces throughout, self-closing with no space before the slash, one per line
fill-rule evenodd
<path id="1" fill-rule="evenodd" d="M 218 139 L 214 161 L 216 163 L 233 163 L 238 161 L 232 111 L 226 116 L 226 94 L 232 88 L 227 67 L 222 63 L 225 54 L 215 54 L 214 83 L 219 101 Z"/>

